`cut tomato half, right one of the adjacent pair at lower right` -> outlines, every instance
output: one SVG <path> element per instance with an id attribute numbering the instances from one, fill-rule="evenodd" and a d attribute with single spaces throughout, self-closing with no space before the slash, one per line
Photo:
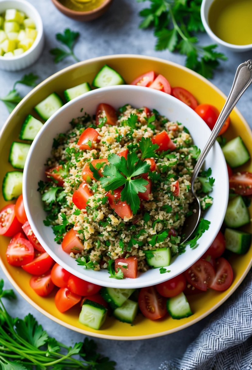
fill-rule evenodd
<path id="1" fill-rule="evenodd" d="M 216 260 L 216 275 L 209 287 L 222 291 L 229 288 L 233 280 L 233 270 L 230 263 L 223 257 Z"/>

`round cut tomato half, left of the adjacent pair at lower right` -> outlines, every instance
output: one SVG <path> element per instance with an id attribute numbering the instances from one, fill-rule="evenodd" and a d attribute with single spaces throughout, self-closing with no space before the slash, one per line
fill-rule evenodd
<path id="1" fill-rule="evenodd" d="M 204 292 L 212 284 L 215 277 L 215 271 L 211 263 L 204 259 L 199 259 L 184 274 L 189 284 Z"/>

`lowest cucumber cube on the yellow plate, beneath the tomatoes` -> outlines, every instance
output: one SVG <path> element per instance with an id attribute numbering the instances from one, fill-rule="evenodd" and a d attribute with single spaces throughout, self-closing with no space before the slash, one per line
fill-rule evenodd
<path id="1" fill-rule="evenodd" d="M 99 330 L 106 319 L 107 311 L 103 305 L 85 299 L 79 314 L 79 322 L 92 327 L 92 329 Z"/>

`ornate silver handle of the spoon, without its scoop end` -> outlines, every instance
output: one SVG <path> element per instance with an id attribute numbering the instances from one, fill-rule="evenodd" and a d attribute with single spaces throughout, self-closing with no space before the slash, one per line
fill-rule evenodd
<path id="1" fill-rule="evenodd" d="M 201 155 L 198 158 L 197 164 L 194 167 L 194 172 L 191 178 L 192 189 L 193 189 L 195 178 L 197 177 L 198 172 L 200 171 L 202 167 L 205 157 L 207 156 L 212 145 L 214 144 L 215 139 L 217 138 L 219 132 L 221 131 L 222 126 L 227 120 L 235 104 L 241 98 L 242 94 L 247 90 L 251 82 L 252 82 L 252 60 L 249 59 L 245 63 L 240 64 L 239 67 L 237 68 L 234 82 L 229 92 L 227 101 L 225 102 L 225 105 L 222 108 L 222 111 L 218 117 L 218 120 L 216 121 L 214 125 L 210 138 L 208 139 L 208 142 L 205 148 L 203 149 L 203 151 L 201 152 Z"/>

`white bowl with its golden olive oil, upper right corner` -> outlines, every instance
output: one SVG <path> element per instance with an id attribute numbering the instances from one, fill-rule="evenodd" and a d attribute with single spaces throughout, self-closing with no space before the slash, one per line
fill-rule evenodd
<path id="1" fill-rule="evenodd" d="M 252 0 L 203 0 L 201 20 L 215 43 L 232 51 L 252 49 Z"/>

